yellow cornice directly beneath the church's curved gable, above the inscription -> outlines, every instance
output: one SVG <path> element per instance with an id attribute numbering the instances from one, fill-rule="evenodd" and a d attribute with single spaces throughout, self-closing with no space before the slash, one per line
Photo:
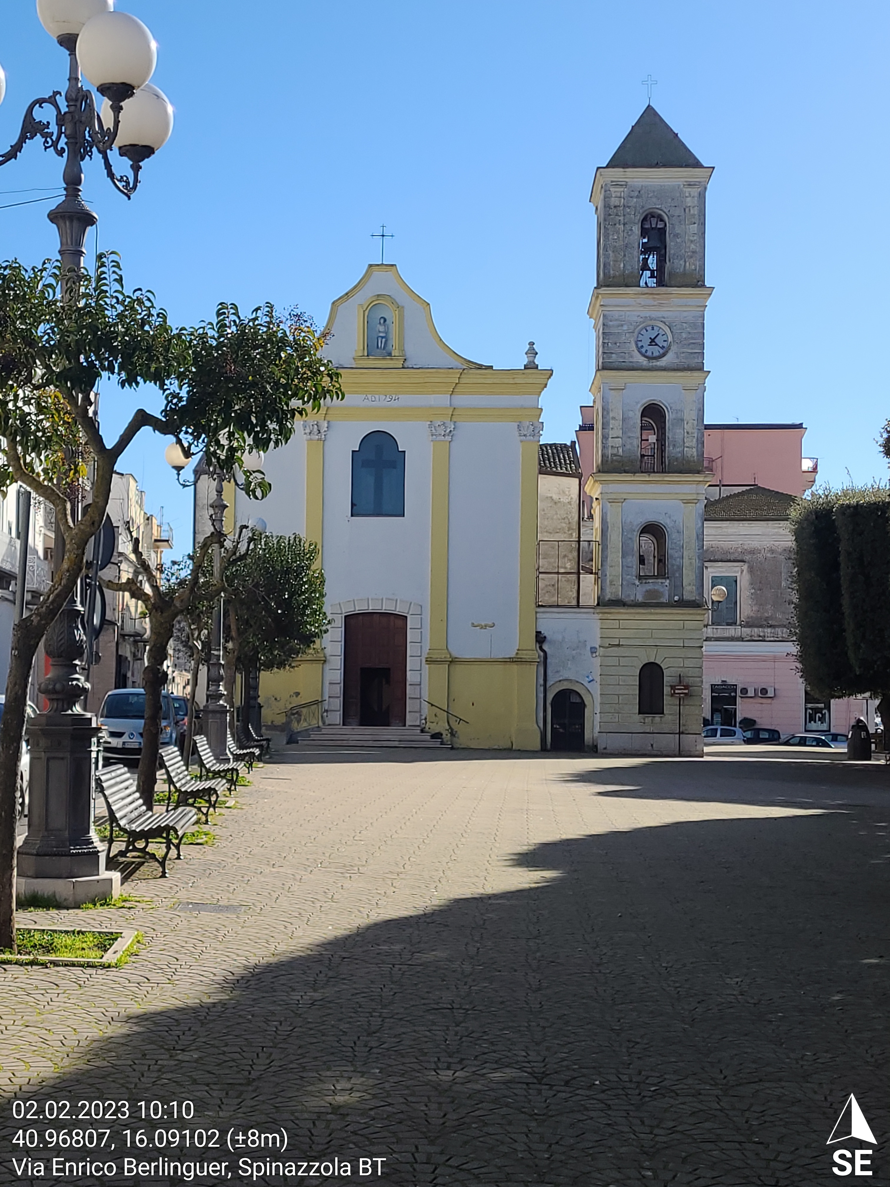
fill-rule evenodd
<path id="1" fill-rule="evenodd" d="M 399 367 L 381 369 L 343 367 L 339 376 L 347 395 L 504 395 L 540 396 L 551 370 L 466 370 L 458 367 Z"/>

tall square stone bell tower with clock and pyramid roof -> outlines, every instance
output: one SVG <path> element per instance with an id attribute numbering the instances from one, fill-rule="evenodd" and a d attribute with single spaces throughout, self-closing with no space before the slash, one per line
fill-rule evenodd
<path id="1" fill-rule="evenodd" d="M 603 753 L 701 753 L 711 173 L 649 104 L 593 179 Z"/>

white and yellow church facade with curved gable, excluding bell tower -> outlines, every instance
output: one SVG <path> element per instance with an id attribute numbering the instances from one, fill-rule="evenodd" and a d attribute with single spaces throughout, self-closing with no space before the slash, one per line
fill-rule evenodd
<path id="1" fill-rule="evenodd" d="M 325 354 L 345 400 L 267 457 L 272 494 L 239 522 L 320 551 L 331 628 L 265 674 L 274 723 L 320 702 L 329 726 L 403 728 L 534 750 L 540 395 L 551 373 L 497 370 L 440 338 L 394 265 L 335 300 Z"/>

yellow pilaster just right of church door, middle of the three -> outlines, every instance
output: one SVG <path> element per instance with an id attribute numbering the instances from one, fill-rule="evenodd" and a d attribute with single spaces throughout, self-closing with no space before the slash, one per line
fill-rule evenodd
<path id="1" fill-rule="evenodd" d="M 438 426 L 437 426 L 438 430 Z M 451 430 L 453 431 L 453 429 Z M 432 442 L 430 497 L 430 649 L 426 653 L 427 729 L 447 734 L 449 705 L 449 475 L 451 442 L 441 429 Z M 438 707 L 437 707 L 438 706 Z"/>

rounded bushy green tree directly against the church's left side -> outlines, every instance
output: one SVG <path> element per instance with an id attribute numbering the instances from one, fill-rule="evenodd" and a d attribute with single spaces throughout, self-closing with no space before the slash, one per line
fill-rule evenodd
<path id="1" fill-rule="evenodd" d="M 318 546 L 301 535 L 256 535 L 223 570 L 225 690 L 235 673 L 291 667 L 328 630 Z"/>

